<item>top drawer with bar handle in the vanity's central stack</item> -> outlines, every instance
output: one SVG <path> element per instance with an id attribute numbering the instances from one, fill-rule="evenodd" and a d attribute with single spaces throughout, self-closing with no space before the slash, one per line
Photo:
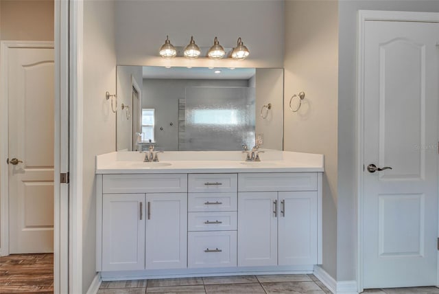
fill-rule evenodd
<path id="1" fill-rule="evenodd" d="M 189 174 L 189 192 L 237 192 L 237 174 Z"/>

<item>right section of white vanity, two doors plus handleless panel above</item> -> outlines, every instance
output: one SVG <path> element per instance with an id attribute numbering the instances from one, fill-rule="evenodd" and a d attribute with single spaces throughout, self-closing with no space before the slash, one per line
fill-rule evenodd
<path id="1" fill-rule="evenodd" d="M 239 174 L 238 183 L 238 266 L 317 264 L 317 173 Z"/>

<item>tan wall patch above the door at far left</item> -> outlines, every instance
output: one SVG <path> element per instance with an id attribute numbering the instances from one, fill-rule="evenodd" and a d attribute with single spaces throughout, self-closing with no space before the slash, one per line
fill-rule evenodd
<path id="1" fill-rule="evenodd" d="M 54 0 L 1 0 L 0 6 L 1 40 L 54 40 Z"/>

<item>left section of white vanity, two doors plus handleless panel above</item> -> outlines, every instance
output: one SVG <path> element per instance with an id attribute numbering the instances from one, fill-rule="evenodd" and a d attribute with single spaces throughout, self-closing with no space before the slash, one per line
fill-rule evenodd
<path id="1" fill-rule="evenodd" d="M 187 268 L 187 174 L 97 175 L 97 271 Z"/>

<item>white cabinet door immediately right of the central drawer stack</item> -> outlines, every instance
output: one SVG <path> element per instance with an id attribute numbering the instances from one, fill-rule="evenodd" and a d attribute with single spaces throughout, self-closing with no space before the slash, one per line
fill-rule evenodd
<path id="1" fill-rule="evenodd" d="M 238 266 L 277 265 L 277 192 L 238 193 Z"/>

